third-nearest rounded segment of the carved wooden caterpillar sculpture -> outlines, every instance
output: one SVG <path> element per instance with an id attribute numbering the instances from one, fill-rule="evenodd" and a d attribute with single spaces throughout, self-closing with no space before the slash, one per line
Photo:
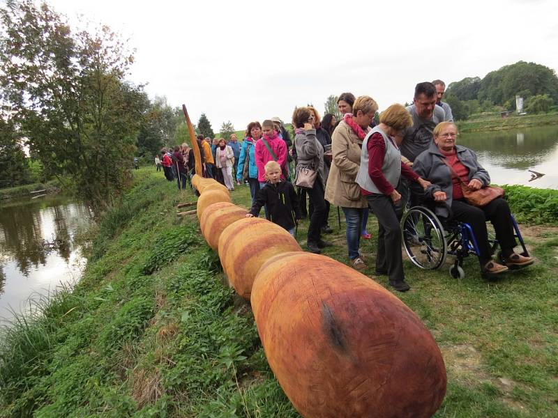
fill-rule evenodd
<path id="1" fill-rule="evenodd" d="M 207 189 L 204 190 L 204 193 Z M 229 202 L 218 202 L 209 205 L 202 217 L 199 218 L 199 227 L 202 234 L 209 244 L 209 247 L 217 251 L 219 237 L 223 230 L 233 222 L 246 218 L 248 211 L 240 206 L 236 206 Z"/>

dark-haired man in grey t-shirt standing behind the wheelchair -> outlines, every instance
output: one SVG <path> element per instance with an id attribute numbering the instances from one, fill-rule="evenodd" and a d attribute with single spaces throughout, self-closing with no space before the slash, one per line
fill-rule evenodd
<path id="1" fill-rule="evenodd" d="M 413 162 L 416 156 L 428 149 L 434 140 L 432 131 L 444 122 L 444 110 L 436 105 L 437 95 L 434 84 L 418 83 L 414 88 L 413 104 L 407 110 L 413 118 L 413 125 L 403 132 L 401 154 Z"/>

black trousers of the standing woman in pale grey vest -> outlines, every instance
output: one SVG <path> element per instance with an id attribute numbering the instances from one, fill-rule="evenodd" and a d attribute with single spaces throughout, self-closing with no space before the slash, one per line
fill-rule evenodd
<path id="1" fill-rule="evenodd" d="M 366 196 L 368 206 L 378 219 L 378 251 L 376 271 L 386 272 L 392 281 L 405 280 L 401 254 L 400 206 L 395 206 L 385 194 Z"/>

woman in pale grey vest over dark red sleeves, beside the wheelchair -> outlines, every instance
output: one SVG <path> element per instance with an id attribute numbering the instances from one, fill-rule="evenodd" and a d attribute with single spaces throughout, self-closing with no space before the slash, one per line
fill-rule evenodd
<path id="1" fill-rule="evenodd" d="M 376 274 L 387 274 L 389 284 L 397 291 L 408 291 L 401 255 L 399 226 L 401 195 L 395 189 L 401 176 L 416 181 L 425 189 L 430 183 L 401 161 L 399 144 L 394 138 L 413 124 L 407 109 L 392 104 L 379 117 L 379 125 L 366 135 L 361 151 L 361 167 L 356 183 L 378 219 Z"/>

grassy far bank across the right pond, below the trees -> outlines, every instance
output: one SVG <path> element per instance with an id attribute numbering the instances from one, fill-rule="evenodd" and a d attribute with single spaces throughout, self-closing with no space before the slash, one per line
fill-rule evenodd
<path id="1" fill-rule="evenodd" d="M 459 131 L 465 132 L 485 132 L 520 127 L 558 125 L 558 113 L 540 115 L 512 115 L 502 118 L 499 114 L 490 114 L 468 119 L 467 121 L 457 122 Z"/>

